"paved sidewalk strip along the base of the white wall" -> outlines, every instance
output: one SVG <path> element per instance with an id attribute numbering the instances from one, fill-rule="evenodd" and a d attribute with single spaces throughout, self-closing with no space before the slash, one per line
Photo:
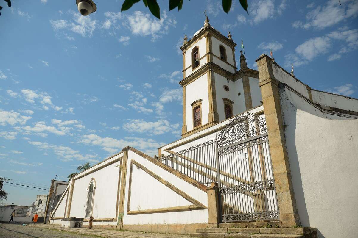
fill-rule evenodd
<path id="1" fill-rule="evenodd" d="M 49 224 L 27 224 L 33 227 L 53 229 L 53 230 L 63 230 L 66 232 L 78 233 L 82 235 L 98 235 L 99 237 L 105 238 L 116 238 L 116 237 L 125 237 L 125 238 L 181 238 L 189 237 L 189 235 L 175 235 L 175 234 L 159 234 L 159 233 L 146 233 L 146 232 L 131 232 L 126 230 L 105 230 L 105 229 L 88 229 L 88 228 L 62 228 L 59 225 L 49 225 Z"/>

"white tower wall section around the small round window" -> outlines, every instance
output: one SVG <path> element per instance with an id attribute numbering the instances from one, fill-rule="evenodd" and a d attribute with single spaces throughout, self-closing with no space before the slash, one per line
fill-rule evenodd
<path id="1" fill-rule="evenodd" d="M 214 73 L 215 91 L 216 91 L 216 105 L 219 114 L 219 121 L 225 120 L 225 108 L 223 98 L 228 98 L 234 102 L 232 105 L 233 115 L 237 115 L 246 110 L 244 90 L 242 86 L 242 79 L 236 81 L 227 80 L 220 74 Z M 224 85 L 229 87 L 229 91 L 225 91 Z M 238 93 L 241 93 L 238 96 Z M 261 94 L 261 93 L 260 93 Z"/>

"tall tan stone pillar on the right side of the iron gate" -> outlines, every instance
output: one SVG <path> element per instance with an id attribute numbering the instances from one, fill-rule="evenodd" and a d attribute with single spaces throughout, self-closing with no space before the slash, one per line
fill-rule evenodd
<path id="1" fill-rule="evenodd" d="M 291 180 L 290 162 L 286 149 L 279 81 L 274 77 L 272 69 L 272 64 L 274 63 L 269 56 L 263 54 L 256 62 L 258 65 L 259 86 L 269 136 L 280 220 L 282 227 L 300 225 Z"/>

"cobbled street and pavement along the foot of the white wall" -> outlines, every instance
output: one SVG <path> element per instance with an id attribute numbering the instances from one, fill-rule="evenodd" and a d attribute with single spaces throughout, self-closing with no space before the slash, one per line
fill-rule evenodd
<path id="1" fill-rule="evenodd" d="M 70 232 L 71 231 L 71 232 Z M 74 233 L 76 232 L 76 233 Z M 55 225 L 0 223 L 0 238 L 182 238 L 187 235 L 156 234 L 144 232 L 129 232 L 120 230 L 102 230 L 85 228 L 69 229 Z"/>

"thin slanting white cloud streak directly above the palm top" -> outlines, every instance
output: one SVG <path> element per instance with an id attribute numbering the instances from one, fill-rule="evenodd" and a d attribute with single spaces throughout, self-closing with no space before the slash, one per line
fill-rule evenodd
<path id="1" fill-rule="evenodd" d="M 53 153 L 57 155 L 62 161 L 71 161 L 73 159 L 77 160 L 87 160 L 90 162 L 99 162 L 95 160 L 98 158 L 96 154 L 84 154 L 82 155 L 79 151 L 73 150 L 70 147 L 65 147 L 62 145 L 53 145 L 48 144 L 47 142 L 37 142 L 37 141 L 29 141 L 31 145 L 35 145 L 40 150 L 53 150 Z"/>

